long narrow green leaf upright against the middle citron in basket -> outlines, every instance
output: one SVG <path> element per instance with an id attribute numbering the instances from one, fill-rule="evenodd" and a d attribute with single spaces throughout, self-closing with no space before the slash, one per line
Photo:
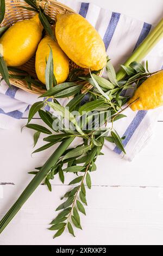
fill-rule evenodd
<path id="1" fill-rule="evenodd" d="M 50 46 L 49 46 L 50 47 Z M 50 47 L 49 57 L 46 64 L 45 79 L 46 79 L 46 89 L 49 90 L 53 87 L 53 52 Z"/>

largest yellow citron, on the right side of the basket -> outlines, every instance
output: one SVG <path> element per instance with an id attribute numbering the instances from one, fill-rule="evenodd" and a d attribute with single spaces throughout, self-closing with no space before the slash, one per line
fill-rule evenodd
<path id="1" fill-rule="evenodd" d="M 81 15 L 58 14 L 55 34 L 62 50 L 78 66 L 91 70 L 100 70 L 105 66 L 104 42 Z"/>

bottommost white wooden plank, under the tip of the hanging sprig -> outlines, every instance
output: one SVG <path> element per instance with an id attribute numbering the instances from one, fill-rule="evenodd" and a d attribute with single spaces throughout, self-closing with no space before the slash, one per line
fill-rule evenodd
<path id="1" fill-rule="evenodd" d="M 56 216 L 55 208 L 67 186 L 53 186 L 48 192 L 40 186 L 0 237 L 1 245 L 143 245 L 162 244 L 163 188 L 92 187 L 87 190 L 87 216 L 81 216 L 83 231 L 67 231 L 56 240 L 47 230 Z M 17 186 L 3 186 L 1 216 L 9 209 Z M 48 200 L 47 200 L 48 198 Z"/>

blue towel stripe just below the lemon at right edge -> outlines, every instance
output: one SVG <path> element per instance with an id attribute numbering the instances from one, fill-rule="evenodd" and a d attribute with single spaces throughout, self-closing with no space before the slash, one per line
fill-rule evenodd
<path id="1" fill-rule="evenodd" d="M 126 132 L 123 135 L 123 137 L 126 136 L 126 138 L 123 140 L 123 146 L 124 147 L 126 147 L 130 138 L 133 136 L 137 127 L 140 125 L 141 121 L 143 120 L 143 118 L 146 116 L 147 113 L 148 113 L 148 111 L 139 111 L 139 112 L 137 112 L 137 114 L 135 115 L 135 118 L 130 123 L 130 125 L 128 126 L 128 129 L 126 130 Z M 119 154 L 119 155 L 122 153 L 121 149 L 119 149 L 118 147 L 116 147 L 114 149 L 114 152 Z"/>

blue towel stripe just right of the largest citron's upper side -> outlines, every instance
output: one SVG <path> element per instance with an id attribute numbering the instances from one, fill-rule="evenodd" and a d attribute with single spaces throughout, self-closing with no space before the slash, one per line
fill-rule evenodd
<path id="1" fill-rule="evenodd" d="M 114 35 L 115 29 L 117 27 L 118 21 L 120 20 L 120 16 L 121 14 L 119 13 L 112 13 L 111 15 L 108 28 L 106 29 L 106 32 L 103 38 L 106 50 L 108 50 L 112 36 Z"/>

